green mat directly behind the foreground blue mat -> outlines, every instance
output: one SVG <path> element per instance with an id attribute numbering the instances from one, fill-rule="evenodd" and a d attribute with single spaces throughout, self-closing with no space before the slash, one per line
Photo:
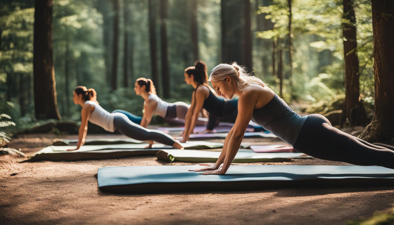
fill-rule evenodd
<path id="1" fill-rule="evenodd" d="M 159 160 L 178 162 L 216 162 L 220 152 L 199 151 L 199 150 L 172 150 L 163 149 L 156 153 Z M 240 149 L 233 163 L 251 162 L 290 162 L 292 158 L 312 158 L 304 153 L 277 152 L 277 153 L 256 153 L 249 149 Z"/>

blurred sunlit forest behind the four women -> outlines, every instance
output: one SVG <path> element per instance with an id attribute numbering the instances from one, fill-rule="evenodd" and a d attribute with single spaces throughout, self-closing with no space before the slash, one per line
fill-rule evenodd
<path id="1" fill-rule="evenodd" d="M 60 117 L 78 121 L 80 106 L 72 102 L 78 85 L 94 88 L 98 101 L 110 112 L 123 109 L 142 115 L 143 99 L 133 91 L 139 77 L 151 78 L 162 99 L 190 103 L 193 89 L 184 83 L 183 74 L 196 60 L 206 62 L 208 74 L 218 63 L 237 61 L 296 111 L 332 113 L 337 125 L 349 123 L 344 119 L 350 117 L 344 106 L 345 81 L 357 79 L 354 104 L 361 104 L 357 113 L 366 118 L 350 125 L 366 125 L 374 113 L 370 0 L 42 2 L 52 7 L 52 18 L 46 21 L 52 24 L 50 48 L 59 113 L 39 114 L 34 99 L 35 10 L 46 19 L 50 14 L 37 11 L 44 6 L 35 6 L 34 0 L 2 0 L 0 113 L 12 118 L 3 114 L 9 125 L 13 121 L 24 128 L 40 119 Z M 43 39 L 37 36 L 38 40 Z M 351 76 L 346 75 L 346 63 Z"/>

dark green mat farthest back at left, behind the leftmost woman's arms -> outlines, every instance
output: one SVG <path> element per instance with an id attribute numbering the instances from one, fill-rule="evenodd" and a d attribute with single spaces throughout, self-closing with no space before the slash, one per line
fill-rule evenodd
<path id="1" fill-rule="evenodd" d="M 78 139 L 53 139 L 53 146 L 63 146 L 63 145 L 76 145 Z M 118 144 L 139 144 L 143 141 L 138 141 L 132 138 L 97 138 L 97 139 L 87 139 L 85 145 L 118 145 Z"/>

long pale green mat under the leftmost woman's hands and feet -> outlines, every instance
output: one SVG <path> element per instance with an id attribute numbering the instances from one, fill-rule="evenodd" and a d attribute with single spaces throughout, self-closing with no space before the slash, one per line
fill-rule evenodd
<path id="1" fill-rule="evenodd" d="M 243 144 L 249 146 L 248 144 Z M 169 145 L 155 143 L 153 149 L 144 149 L 147 143 L 141 144 L 121 144 L 121 145 L 84 145 L 75 151 L 67 151 L 73 146 L 48 146 L 28 156 L 27 160 L 22 162 L 34 162 L 41 160 L 50 161 L 76 161 L 76 160 L 94 160 L 108 158 L 122 158 L 129 156 L 155 155 L 161 149 L 171 149 Z M 182 143 L 185 149 L 215 149 L 223 147 L 223 143 L 207 141 L 188 141 Z M 104 151 L 106 150 L 106 151 Z M 110 151 L 112 150 L 112 151 Z M 86 153 L 85 153 L 86 152 Z M 120 152 L 120 153 L 119 153 Z M 95 155 L 96 154 L 96 155 Z"/>

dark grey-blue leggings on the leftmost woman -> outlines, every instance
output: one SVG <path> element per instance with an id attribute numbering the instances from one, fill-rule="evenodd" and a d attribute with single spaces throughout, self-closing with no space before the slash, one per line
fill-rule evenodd
<path id="1" fill-rule="evenodd" d="M 122 134 L 139 141 L 153 140 L 170 146 L 175 144 L 174 139 L 170 135 L 160 130 L 150 130 L 139 126 L 138 124 L 130 121 L 130 119 L 128 119 L 123 113 L 115 113 L 113 126 L 115 126 L 115 128 Z"/>

